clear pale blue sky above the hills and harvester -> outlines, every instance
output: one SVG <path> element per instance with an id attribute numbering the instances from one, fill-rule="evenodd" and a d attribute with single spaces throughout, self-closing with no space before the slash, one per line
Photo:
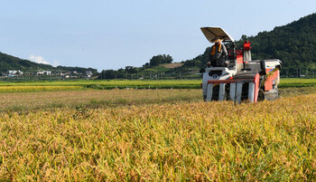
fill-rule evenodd
<path id="1" fill-rule="evenodd" d="M 201 26 L 238 40 L 316 12 L 315 0 L 2 0 L 0 52 L 52 65 L 118 69 L 153 55 L 189 60 Z"/>

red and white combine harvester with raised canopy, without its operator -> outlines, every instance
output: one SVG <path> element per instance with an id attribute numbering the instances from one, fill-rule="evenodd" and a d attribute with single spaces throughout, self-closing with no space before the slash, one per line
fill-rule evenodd
<path id="1" fill-rule="evenodd" d="M 204 101 L 263 101 L 279 97 L 277 84 L 280 81 L 282 62 L 252 60 L 250 42 L 236 50 L 234 39 L 219 27 L 202 27 L 202 33 L 211 40 L 220 37 L 228 50 L 226 67 L 208 67 L 203 72 Z"/>

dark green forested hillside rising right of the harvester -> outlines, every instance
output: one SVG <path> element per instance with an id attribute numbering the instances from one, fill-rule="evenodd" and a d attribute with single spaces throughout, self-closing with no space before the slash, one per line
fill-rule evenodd
<path id="1" fill-rule="evenodd" d="M 277 58 L 283 67 L 304 67 L 316 69 L 316 14 L 302 17 L 291 24 L 277 26 L 271 32 L 262 32 L 246 37 L 252 43 L 254 59 Z"/>

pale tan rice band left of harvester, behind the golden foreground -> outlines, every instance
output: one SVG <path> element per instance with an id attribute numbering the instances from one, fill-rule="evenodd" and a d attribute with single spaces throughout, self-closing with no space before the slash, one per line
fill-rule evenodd
<path id="1" fill-rule="evenodd" d="M 174 101 L 200 101 L 201 91 L 181 90 L 79 90 L 3 92 L 0 94 L 0 111 L 114 108 Z"/>

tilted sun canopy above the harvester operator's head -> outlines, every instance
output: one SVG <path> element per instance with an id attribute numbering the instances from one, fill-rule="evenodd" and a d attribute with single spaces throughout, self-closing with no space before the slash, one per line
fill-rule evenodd
<path id="1" fill-rule="evenodd" d="M 216 37 L 224 39 L 224 41 L 234 42 L 234 39 L 220 27 L 201 27 L 200 30 L 209 40 L 209 43 L 211 43 L 211 40 L 215 39 Z"/>

